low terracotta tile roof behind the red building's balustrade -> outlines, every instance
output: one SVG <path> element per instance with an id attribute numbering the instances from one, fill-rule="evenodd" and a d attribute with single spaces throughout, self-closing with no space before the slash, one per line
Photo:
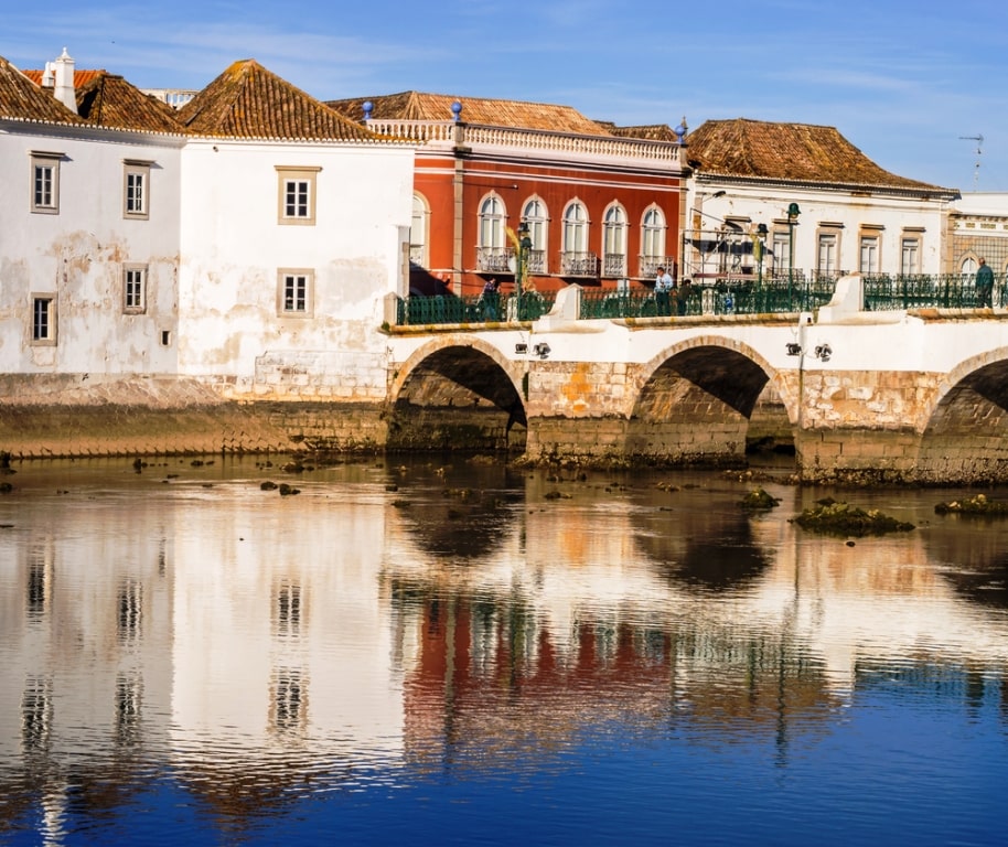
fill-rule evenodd
<path id="1" fill-rule="evenodd" d="M 352 120 L 364 119 L 364 104 L 374 105 L 373 118 L 385 120 L 452 120 L 451 105 L 462 104 L 460 120 L 465 124 L 482 124 L 493 127 L 540 129 L 553 132 L 570 132 L 582 136 L 609 136 L 610 132 L 598 121 L 586 118 L 570 106 L 554 106 L 545 103 L 524 100 L 500 100 L 489 97 L 453 97 L 447 94 L 400 92 L 377 97 L 353 97 L 344 100 L 326 100 L 326 105 Z"/>

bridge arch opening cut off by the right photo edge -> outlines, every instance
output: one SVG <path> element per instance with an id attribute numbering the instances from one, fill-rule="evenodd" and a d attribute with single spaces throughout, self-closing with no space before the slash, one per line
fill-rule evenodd
<path id="1" fill-rule="evenodd" d="M 1008 482 L 1008 361 L 973 371 L 942 397 L 913 475 L 926 484 Z"/>

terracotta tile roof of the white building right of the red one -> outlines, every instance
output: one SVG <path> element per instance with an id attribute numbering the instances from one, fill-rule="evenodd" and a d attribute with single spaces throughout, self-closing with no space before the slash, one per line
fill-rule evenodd
<path id="1" fill-rule="evenodd" d="M 736 118 L 708 120 L 686 137 L 700 172 L 789 182 L 948 191 L 883 170 L 834 127 Z"/>

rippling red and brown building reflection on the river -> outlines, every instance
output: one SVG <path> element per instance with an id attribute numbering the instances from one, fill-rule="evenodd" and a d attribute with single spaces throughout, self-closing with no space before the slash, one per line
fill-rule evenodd
<path id="1" fill-rule="evenodd" d="M 476 764 L 491 752 L 497 761 L 541 758 L 604 722 L 688 719 L 769 737 L 787 718 L 807 732 L 836 704 L 823 666 L 801 648 L 734 626 L 643 625 L 603 613 L 579 620 L 558 648 L 541 617 L 513 598 L 403 583 L 393 593 L 412 598 L 397 611 L 400 640 L 416 628 L 404 688 L 414 762 L 460 755 Z"/>

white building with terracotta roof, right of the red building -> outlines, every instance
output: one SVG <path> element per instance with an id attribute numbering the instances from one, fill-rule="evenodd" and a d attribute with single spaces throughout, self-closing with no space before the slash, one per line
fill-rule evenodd
<path id="1" fill-rule="evenodd" d="M 833 127 L 710 120 L 687 144 L 683 276 L 943 269 L 958 191 L 884 171 Z M 765 245 L 762 258 L 753 242 Z"/>

